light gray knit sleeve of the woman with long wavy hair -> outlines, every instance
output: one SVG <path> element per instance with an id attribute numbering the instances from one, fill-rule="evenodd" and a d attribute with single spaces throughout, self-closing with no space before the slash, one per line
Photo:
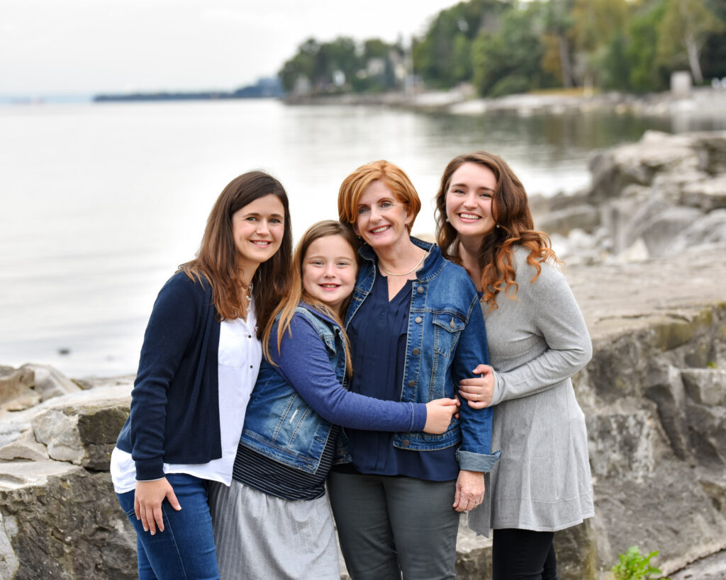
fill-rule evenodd
<path id="1" fill-rule="evenodd" d="M 521 288 L 529 284 L 529 278 L 518 283 Z M 560 271 L 543 264 L 542 273 L 521 299 L 531 302 L 525 306 L 534 319 L 533 331 L 544 339 L 545 349 L 507 372 L 494 370 L 491 405 L 546 391 L 573 376 L 592 357 L 592 342 L 582 312 Z"/>

